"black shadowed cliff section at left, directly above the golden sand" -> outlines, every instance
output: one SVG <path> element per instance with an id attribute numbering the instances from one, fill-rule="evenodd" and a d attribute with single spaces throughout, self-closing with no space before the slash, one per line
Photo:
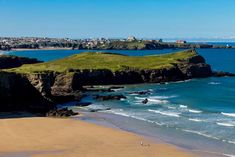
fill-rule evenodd
<path id="1" fill-rule="evenodd" d="M 27 110 L 46 112 L 53 103 L 42 96 L 30 81 L 15 73 L 0 72 L 0 112 Z"/>

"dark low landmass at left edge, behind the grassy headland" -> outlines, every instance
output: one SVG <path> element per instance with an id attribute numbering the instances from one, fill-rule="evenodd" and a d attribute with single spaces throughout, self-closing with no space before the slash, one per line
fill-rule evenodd
<path id="1" fill-rule="evenodd" d="M 41 62 L 42 61 L 38 61 L 34 58 L 0 55 L 0 69 L 16 68 L 23 64 L 35 64 Z"/>

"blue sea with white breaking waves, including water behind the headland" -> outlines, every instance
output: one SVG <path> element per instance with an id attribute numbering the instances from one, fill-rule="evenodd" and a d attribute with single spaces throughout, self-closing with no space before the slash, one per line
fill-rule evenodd
<path id="1" fill-rule="evenodd" d="M 9 54 L 51 61 L 84 50 L 43 50 L 9 52 Z M 85 50 L 86 51 L 86 50 Z M 108 52 L 133 56 L 164 54 L 179 50 L 112 50 Z M 235 73 L 235 49 L 197 50 L 216 71 Z M 149 91 L 146 95 L 133 91 Z M 97 94 L 97 93 L 92 93 Z M 104 95 L 110 93 L 103 93 Z M 127 99 L 101 102 L 91 96 L 85 108 L 91 122 L 109 125 L 160 139 L 190 151 L 207 152 L 208 156 L 235 156 L 235 78 L 205 78 L 168 84 L 126 85 L 115 94 Z M 142 104 L 144 99 L 149 102 Z M 79 110 L 72 107 L 74 110 Z M 106 109 L 93 115 L 90 109 Z M 99 117 L 100 120 L 97 120 Z M 206 156 L 205 154 L 203 156 Z"/>

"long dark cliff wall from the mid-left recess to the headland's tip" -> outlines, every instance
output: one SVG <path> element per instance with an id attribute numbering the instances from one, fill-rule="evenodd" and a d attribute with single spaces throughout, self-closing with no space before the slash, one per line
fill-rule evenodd
<path id="1" fill-rule="evenodd" d="M 112 72 L 110 70 L 83 70 L 73 74 L 73 89 L 81 89 L 83 85 L 107 84 L 136 84 L 136 83 L 161 83 L 180 81 L 191 78 L 212 76 L 210 65 L 205 59 L 194 56 L 185 61 L 180 61 L 171 68 L 153 70 L 124 70 Z"/>

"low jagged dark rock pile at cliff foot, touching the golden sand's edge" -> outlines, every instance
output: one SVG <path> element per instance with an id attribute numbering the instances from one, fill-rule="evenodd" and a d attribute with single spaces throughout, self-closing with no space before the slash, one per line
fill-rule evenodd
<path id="1" fill-rule="evenodd" d="M 69 110 L 68 108 L 63 109 L 53 109 L 46 113 L 47 117 L 71 117 L 76 116 L 78 113 L 73 112 L 72 110 Z"/>

